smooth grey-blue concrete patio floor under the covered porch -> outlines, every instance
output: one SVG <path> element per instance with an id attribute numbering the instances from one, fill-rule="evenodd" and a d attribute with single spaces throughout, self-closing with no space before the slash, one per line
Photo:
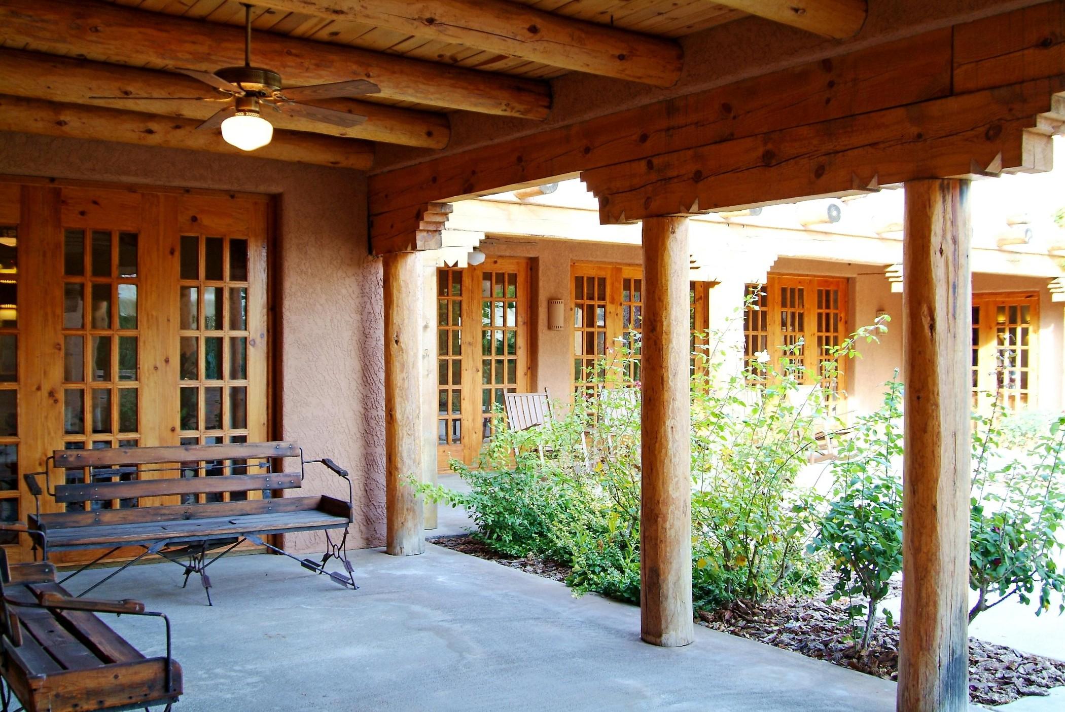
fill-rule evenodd
<path id="1" fill-rule="evenodd" d="M 211 569 L 213 608 L 181 569 L 138 566 L 94 591 L 174 622 L 177 710 L 715 710 L 889 712 L 895 684 L 697 627 L 695 643 L 638 638 L 639 610 L 433 545 L 353 556 L 350 592 L 275 556 Z M 105 576 L 96 569 L 71 590 Z M 159 620 L 109 623 L 161 653 Z"/>

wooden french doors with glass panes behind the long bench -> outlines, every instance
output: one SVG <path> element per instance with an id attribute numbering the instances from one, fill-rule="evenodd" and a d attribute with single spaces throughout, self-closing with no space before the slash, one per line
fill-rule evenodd
<path id="1" fill-rule="evenodd" d="M 267 437 L 268 220 L 265 196 L 0 179 L 0 519 L 52 450 Z"/>

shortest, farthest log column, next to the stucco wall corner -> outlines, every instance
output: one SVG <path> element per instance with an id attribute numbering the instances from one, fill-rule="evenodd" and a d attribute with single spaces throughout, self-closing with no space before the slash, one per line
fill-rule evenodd
<path id="1" fill-rule="evenodd" d="M 422 423 L 425 349 L 421 312 L 426 280 L 417 252 L 386 254 L 382 262 L 386 551 L 402 557 L 425 550 L 422 498 L 415 496 L 409 478 L 422 480 L 425 467 Z"/>

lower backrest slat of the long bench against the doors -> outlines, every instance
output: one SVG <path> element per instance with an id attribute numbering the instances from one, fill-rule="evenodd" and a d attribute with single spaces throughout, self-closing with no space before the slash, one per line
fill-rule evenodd
<path id="1" fill-rule="evenodd" d="M 276 475 L 219 475 L 217 477 L 168 477 L 158 480 L 128 482 L 91 482 L 59 484 L 55 501 L 84 502 L 134 497 L 165 497 L 218 492 L 253 492 L 256 490 L 291 490 L 302 485 L 299 473 Z"/>

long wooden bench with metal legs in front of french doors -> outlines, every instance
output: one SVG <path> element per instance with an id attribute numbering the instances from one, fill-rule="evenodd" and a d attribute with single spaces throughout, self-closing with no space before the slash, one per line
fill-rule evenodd
<path id="1" fill-rule="evenodd" d="M 275 463 L 289 458 L 299 458 L 298 469 L 275 468 Z M 304 467 L 311 463 L 323 464 L 347 482 L 347 501 L 327 496 L 272 496 L 300 487 Z M 68 511 L 42 513 L 39 477 L 44 477 L 48 494 L 56 503 L 67 504 Z M 53 484 L 55 479 L 62 483 Z M 310 570 L 328 574 L 341 585 L 358 589 L 346 549 L 353 520 L 351 480 L 347 470 L 328 458 L 304 460 L 296 443 L 56 450 L 48 458 L 48 469 L 27 474 L 26 482 L 37 500 L 36 514 L 29 516 L 30 529 L 40 532 L 46 561 L 53 551 L 106 549 L 61 583 L 122 547 L 144 549 L 80 595 L 140 559 L 159 554 L 184 566 L 185 584 L 192 574 L 198 574 L 211 605 L 208 566 L 245 541 L 295 559 Z M 248 493 L 260 491 L 263 498 L 248 497 Z M 229 501 L 225 501 L 227 495 Z M 180 503 L 141 506 L 145 498 Z M 330 532 L 341 529 L 344 533 L 334 543 Z M 263 539 L 301 531 L 325 531 L 328 548 L 321 562 L 299 559 Z M 208 552 L 217 549 L 220 553 L 208 560 Z M 187 563 L 178 561 L 184 557 Z M 343 564 L 343 574 L 326 570 L 333 558 Z"/>

